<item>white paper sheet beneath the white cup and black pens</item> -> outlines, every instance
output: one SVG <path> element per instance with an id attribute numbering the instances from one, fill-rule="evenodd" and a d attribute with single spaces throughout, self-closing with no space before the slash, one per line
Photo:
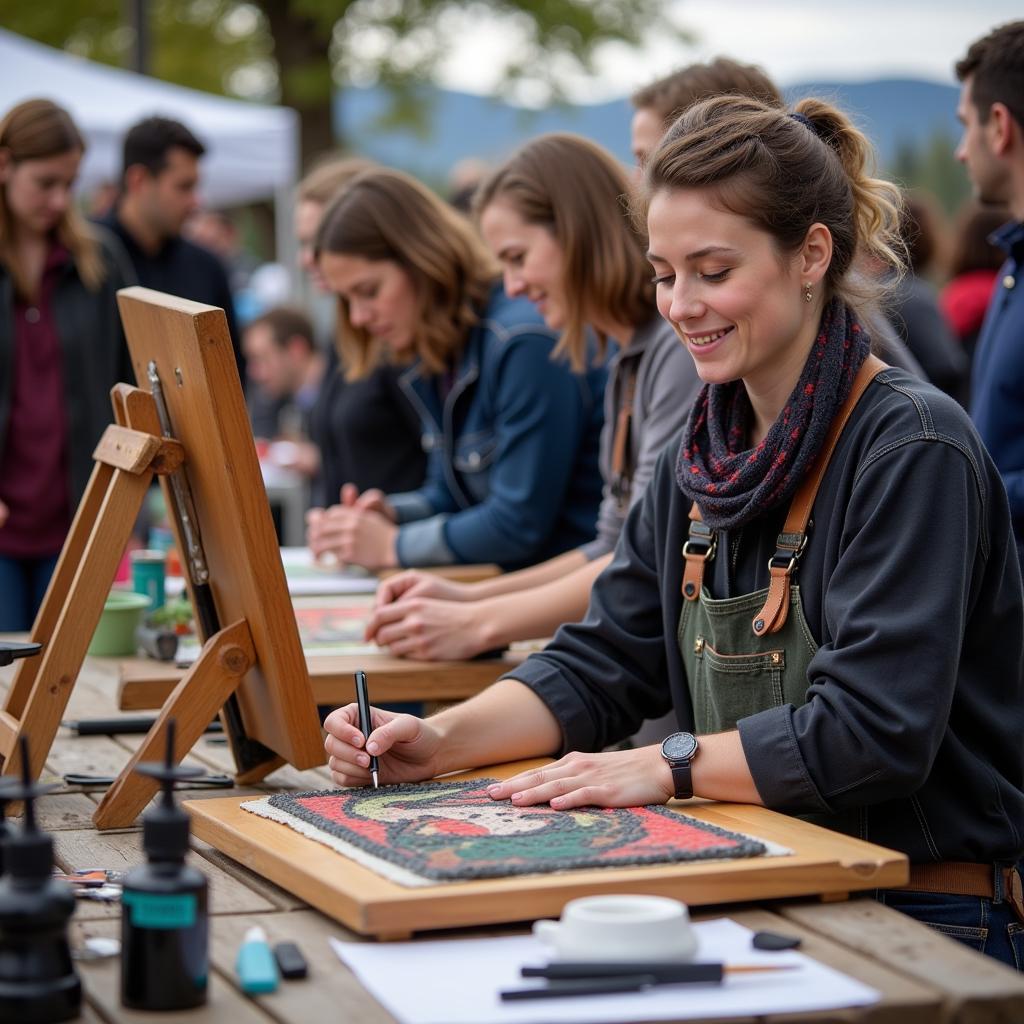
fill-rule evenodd
<path id="1" fill-rule="evenodd" d="M 543 985 L 522 978 L 524 964 L 545 964 L 531 935 L 424 942 L 341 942 L 339 958 L 402 1024 L 617 1024 L 692 1020 L 862 1007 L 879 992 L 799 952 L 751 947 L 750 929 L 721 918 L 693 926 L 697 959 L 795 964 L 792 971 L 726 977 L 721 985 L 665 985 L 643 992 L 502 1002 L 503 988 Z"/>

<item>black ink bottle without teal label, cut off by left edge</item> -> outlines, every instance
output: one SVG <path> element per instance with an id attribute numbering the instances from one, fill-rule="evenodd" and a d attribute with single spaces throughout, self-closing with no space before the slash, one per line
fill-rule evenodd
<path id="1" fill-rule="evenodd" d="M 0 1021 L 50 1024 L 78 1017 L 82 982 L 68 945 L 75 912 L 71 886 L 53 878 L 53 840 L 36 827 L 35 800 L 52 786 L 32 781 L 29 743 L 22 737 L 22 784 L 7 800 L 25 801 L 25 824 L 4 841 L 0 881 Z"/>

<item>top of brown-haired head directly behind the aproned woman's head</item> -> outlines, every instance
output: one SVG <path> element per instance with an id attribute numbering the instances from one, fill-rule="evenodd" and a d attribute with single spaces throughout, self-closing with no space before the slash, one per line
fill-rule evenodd
<path id="1" fill-rule="evenodd" d="M 742 65 L 729 57 L 710 63 L 688 65 L 656 82 L 637 89 L 633 104 L 632 146 L 637 167 L 642 168 L 669 125 L 687 106 L 711 96 L 736 94 L 782 105 L 775 83 L 755 65 Z"/>

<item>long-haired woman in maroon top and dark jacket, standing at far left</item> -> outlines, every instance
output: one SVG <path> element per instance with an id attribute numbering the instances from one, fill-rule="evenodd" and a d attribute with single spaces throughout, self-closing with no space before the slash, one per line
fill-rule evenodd
<path id="1" fill-rule="evenodd" d="M 0 632 L 31 627 L 110 389 L 133 379 L 115 299 L 130 264 L 72 202 L 84 148 L 49 100 L 0 120 Z"/>

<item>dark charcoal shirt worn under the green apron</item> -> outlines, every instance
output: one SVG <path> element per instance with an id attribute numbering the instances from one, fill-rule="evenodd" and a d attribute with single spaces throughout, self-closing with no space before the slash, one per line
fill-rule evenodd
<path id="1" fill-rule="evenodd" d="M 581 625 L 511 673 L 601 750 L 675 706 L 692 728 L 676 640 L 690 503 L 662 457 Z M 714 597 L 767 586 L 785 508 L 719 538 Z M 1006 492 L 966 413 L 900 370 L 865 392 L 813 510 L 797 570 L 819 645 L 808 701 L 738 729 L 768 807 L 911 861 L 1024 853 L 1024 597 Z M 699 755 L 698 755 L 699 756 Z"/>

